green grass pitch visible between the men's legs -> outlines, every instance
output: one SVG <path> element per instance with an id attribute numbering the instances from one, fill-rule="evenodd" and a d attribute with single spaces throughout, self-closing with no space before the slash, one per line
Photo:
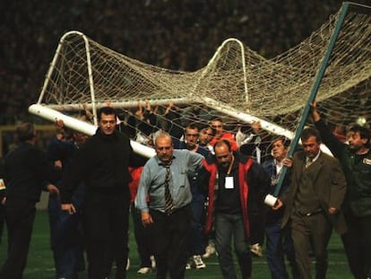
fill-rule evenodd
<path id="1" fill-rule="evenodd" d="M 131 227 L 132 229 L 132 227 Z M 132 230 L 131 230 L 132 231 Z M 134 242 L 134 234 L 130 233 L 130 262 L 131 267 L 128 271 L 127 278 L 156 278 L 154 273 L 148 275 L 138 275 L 136 271 L 139 268 L 138 254 Z M 28 263 L 24 271 L 23 279 L 51 279 L 54 278 L 55 270 L 53 256 L 49 248 L 49 230 L 47 221 L 47 212 L 38 211 L 34 224 L 32 240 L 30 243 L 30 253 Z M 329 268 L 327 271 L 328 279 L 349 279 L 352 276 L 349 273 L 349 267 L 342 248 L 340 237 L 333 233 L 332 240 L 328 247 L 329 250 Z M 0 263 L 4 262 L 6 252 L 6 232 L 3 241 L 0 244 Z M 187 270 L 186 278 L 189 279 L 219 279 L 220 268 L 215 255 L 205 259 L 206 268 L 202 270 Z M 237 264 L 236 264 L 237 267 Z M 313 269 L 314 269 L 313 263 Z M 86 278 L 86 273 L 81 274 L 81 278 Z M 268 279 L 270 278 L 268 266 L 265 257 L 253 258 L 253 278 Z"/>

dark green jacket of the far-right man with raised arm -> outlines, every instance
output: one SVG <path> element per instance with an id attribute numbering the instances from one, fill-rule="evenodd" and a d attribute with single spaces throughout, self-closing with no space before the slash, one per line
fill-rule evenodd
<path id="1" fill-rule="evenodd" d="M 350 210 L 356 216 L 371 215 L 371 151 L 362 161 L 356 163 L 356 154 L 349 149 L 348 144 L 341 143 L 332 134 L 323 120 L 316 122 L 315 126 L 321 133 L 324 144 L 341 161 L 348 184 L 344 211 Z"/>

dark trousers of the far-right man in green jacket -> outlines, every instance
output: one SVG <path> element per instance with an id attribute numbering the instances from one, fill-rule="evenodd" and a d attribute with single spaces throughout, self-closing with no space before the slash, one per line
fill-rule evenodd
<path id="1" fill-rule="evenodd" d="M 341 236 L 349 268 L 356 279 L 371 276 L 371 215 L 345 214 L 348 231 Z"/>

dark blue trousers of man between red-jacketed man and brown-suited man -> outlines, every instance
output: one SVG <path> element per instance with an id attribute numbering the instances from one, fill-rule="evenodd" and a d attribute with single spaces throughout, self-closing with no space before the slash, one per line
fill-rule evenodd
<path id="1" fill-rule="evenodd" d="M 289 279 L 285 256 L 289 260 L 292 278 L 298 279 L 298 267 L 295 262 L 294 244 L 289 230 L 280 228 L 280 218 L 265 225 L 266 257 L 272 279 Z"/>

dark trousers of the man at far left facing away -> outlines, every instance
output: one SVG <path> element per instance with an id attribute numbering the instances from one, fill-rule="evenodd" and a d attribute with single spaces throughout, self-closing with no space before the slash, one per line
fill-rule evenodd
<path id="1" fill-rule="evenodd" d="M 8 231 L 8 254 L 0 271 L 0 278 L 22 279 L 35 214 L 35 202 L 7 200 L 5 222 Z"/>

